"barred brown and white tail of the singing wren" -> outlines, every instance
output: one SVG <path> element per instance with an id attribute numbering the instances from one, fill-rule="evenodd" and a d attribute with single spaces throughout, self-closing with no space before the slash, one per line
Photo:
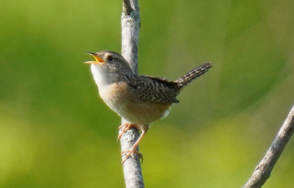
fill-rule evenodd
<path id="1" fill-rule="evenodd" d="M 177 79 L 175 82 L 177 83 L 178 90 L 183 89 L 191 81 L 206 73 L 212 66 L 212 63 L 204 63 Z"/>

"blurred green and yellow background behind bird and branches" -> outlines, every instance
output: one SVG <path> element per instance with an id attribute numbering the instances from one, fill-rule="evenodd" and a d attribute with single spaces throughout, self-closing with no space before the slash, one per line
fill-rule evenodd
<path id="1" fill-rule="evenodd" d="M 120 118 L 85 52 L 121 50 L 121 1 L 2 1 L 0 187 L 124 187 Z M 241 187 L 294 97 L 294 1 L 140 1 L 140 74 L 214 67 L 140 144 L 146 187 Z M 294 187 L 294 142 L 264 187 Z"/>

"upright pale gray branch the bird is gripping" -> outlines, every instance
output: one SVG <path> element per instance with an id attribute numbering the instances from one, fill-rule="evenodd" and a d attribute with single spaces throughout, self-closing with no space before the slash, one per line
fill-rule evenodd
<path id="1" fill-rule="evenodd" d="M 138 40 L 140 31 L 140 13 L 138 0 L 123 0 L 121 15 L 121 54 L 131 65 L 132 70 L 138 73 Z M 122 119 L 122 124 L 126 120 Z M 121 137 L 121 151 L 133 146 L 140 133 L 138 129 L 131 128 Z M 122 155 L 122 159 L 123 159 Z M 127 188 L 143 188 L 143 176 L 140 159 L 129 158 L 123 163 L 123 174 Z"/>

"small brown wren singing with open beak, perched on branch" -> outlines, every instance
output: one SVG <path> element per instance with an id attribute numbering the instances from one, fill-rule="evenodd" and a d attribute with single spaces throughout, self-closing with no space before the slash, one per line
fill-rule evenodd
<path id="1" fill-rule="evenodd" d="M 141 130 L 133 146 L 121 152 L 125 154 L 122 163 L 130 156 L 134 157 L 134 154 L 142 157 L 136 148 L 150 124 L 167 117 L 173 104 L 179 102 L 176 97 L 182 89 L 213 66 L 212 63 L 204 63 L 176 81 L 171 81 L 162 77 L 136 74 L 128 61 L 114 51 L 87 53 L 95 58 L 95 61 L 84 63 L 91 64 L 100 97 L 110 109 L 128 122 L 119 127 L 121 132 L 118 139 L 131 127 Z"/>

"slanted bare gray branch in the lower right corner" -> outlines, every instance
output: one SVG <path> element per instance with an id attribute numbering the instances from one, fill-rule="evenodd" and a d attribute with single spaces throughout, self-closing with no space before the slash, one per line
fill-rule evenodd
<path id="1" fill-rule="evenodd" d="M 255 168 L 252 176 L 243 188 L 257 188 L 263 186 L 265 181 L 270 177 L 276 162 L 282 154 L 286 144 L 289 142 L 294 131 L 294 106 L 290 110 L 288 117 L 283 123 L 280 131 L 276 135 L 272 145 L 266 152 L 263 159 Z"/>

